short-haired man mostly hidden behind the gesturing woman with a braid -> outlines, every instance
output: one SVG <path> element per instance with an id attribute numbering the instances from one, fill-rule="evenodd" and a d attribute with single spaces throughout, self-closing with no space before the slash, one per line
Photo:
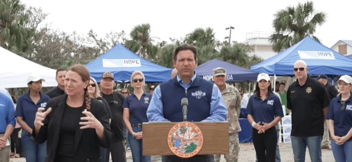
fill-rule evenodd
<path id="1" fill-rule="evenodd" d="M 56 79 L 56 82 L 58 83 L 58 87 L 46 93 L 50 98 L 55 98 L 65 94 L 65 76 L 66 76 L 66 69 L 61 68 L 56 70 L 55 79 Z"/>

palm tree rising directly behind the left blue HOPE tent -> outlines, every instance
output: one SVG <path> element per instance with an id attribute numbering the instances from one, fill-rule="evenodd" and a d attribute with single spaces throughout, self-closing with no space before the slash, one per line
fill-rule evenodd
<path id="1" fill-rule="evenodd" d="M 148 54 L 149 58 L 154 58 L 158 47 L 152 44 L 150 36 L 150 24 L 137 25 L 129 33 L 131 40 L 126 41 L 125 47 L 135 53 L 141 53 L 143 58 Z"/>

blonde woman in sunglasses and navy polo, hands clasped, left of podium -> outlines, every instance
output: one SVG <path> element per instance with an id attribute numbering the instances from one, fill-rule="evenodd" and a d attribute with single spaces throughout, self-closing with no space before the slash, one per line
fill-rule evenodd
<path id="1" fill-rule="evenodd" d="M 143 156 L 142 123 L 148 122 L 147 109 L 152 99 L 152 94 L 143 91 L 145 77 L 141 71 L 131 75 L 131 85 L 135 88 L 123 102 L 123 121 L 128 130 L 128 141 L 131 147 L 134 162 L 149 162 L 151 156 Z"/>

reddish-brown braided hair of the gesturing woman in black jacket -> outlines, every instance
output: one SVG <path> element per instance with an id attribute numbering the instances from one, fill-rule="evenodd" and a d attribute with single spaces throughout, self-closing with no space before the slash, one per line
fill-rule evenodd
<path id="1" fill-rule="evenodd" d="M 85 67 L 84 65 L 81 65 L 81 64 L 72 65 L 70 68 L 67 69 L 67 71 L 76 72 L 82 78 L 83 82 L 90 80 L 90 77 L 91 77 L 88 68 Z M 88 86 L 89 86 L 89 84 L 87 85 L 87 87 Z M 85 108 L 87 110 L 90 110 L 91 109 L 91 96 L 88 93 L 87 87 L 84 88 L 84 101 L 85 101 Z"/>

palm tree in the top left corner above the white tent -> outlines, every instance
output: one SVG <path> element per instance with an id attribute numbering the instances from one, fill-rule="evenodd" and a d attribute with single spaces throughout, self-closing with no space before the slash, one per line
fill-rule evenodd
<path id="1" fill-rule="evenodd" d="M 0 0 L 0 46 L 15 53 L 28 50 L 35 35 L 35 29 L 24 27 L 24 9 L 19 0 Z"/>

